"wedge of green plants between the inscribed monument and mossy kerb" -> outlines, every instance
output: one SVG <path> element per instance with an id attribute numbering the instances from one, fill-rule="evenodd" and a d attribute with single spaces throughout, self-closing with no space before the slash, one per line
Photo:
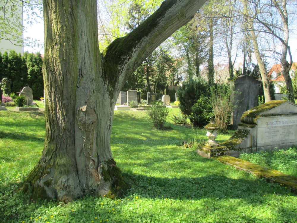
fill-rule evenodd
<path id="1" fill-rule="evenodd" d="M 268 167 L 278 170 L 287 175 L 297 177 L 297 148 L 288 148 L 284 150 L 271 150 L 260 153 L 243 153 L 239 157 L 259 164 L 262 167 Z"/>

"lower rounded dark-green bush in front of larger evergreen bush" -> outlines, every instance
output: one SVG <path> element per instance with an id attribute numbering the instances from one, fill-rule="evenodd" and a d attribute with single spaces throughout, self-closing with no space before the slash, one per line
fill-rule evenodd
<path id="1" fill-rule="evenodd" d="M 213 116 L 214 112 L 212 111 L 210 98 L 202 96 L 197 100 L 197 103 L 192 106 L 192 113 L 189 119 L 194 127 L 202 128 L 209 123 Z"/>

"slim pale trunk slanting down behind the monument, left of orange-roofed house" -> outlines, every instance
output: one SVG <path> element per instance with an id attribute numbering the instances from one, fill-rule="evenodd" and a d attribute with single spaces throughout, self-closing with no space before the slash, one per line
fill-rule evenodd
<path id="1" fill-rule="evenodd" d="M 270 94 L 270 89 L 269 89 L 269 80 L 268 80 L 268 76 L 267 76 L 267 71 L 266 71 L 264 62 L 262 60 L 260 51 L 259 51 L 259 46 L 258 46 L 258 42 L 257 42 L 257 36 L 256 36 L 255 30 L 254 30 L 253 21 L 252 21 L 251 17 L 249 16 L 249 12 L 247 10 L 247 0 L 242 0 L 242 3 L 244 5 L 244 15 L 247 16 L 248 26 L 250 29 L 251 39 L 252 39 L 252 43 L 253 43 L 253 47 L 254 47 L 254 53 L 255 53 L 257 63 L 259 66 L 259 70 L 261 73 L 265 102 L 268 102 L 268 101 L 271 101 L 271 94 Z"/>

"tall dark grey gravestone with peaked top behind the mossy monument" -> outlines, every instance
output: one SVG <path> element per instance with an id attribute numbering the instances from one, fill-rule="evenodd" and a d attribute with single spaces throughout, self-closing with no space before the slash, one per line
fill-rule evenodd
<path id="1" fill-rule="evenodd" d="M 241 115 L 259 103 L 259 82 L 249 75 L 241 75 L 233 81 L 234 85 L 234 111 L 231 112 L 230 122 L 237 128 Z"/>

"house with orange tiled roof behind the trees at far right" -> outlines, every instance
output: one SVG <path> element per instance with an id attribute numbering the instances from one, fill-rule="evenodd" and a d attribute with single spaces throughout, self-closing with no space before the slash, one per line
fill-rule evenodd
<path id="1" fill-rule="evenodd" d="M 294 78 L 296 70 L 297 70 L 297 63 L 293 62 L 292 67 L 289 72 L 291 78 Z M 271 69 L 269 70 L 268 76 L 271 76 L 271 81 L 274 82 L 274 89 L 275 89 L 275 93 L 276 93 L 275 99 L 280 100 L 280 98 L 282 97 L 280 88 L 286 84 L 285 78 L 281 73 L 281 65 L 280 64 L 273 65 L 271 67 Z M 277 94 L 280 94 L 280 95 L 277 95 Z M 280 96 L 280 98 L 278 96 Z M 283 95 L 283 96 L 285 96 L 285 95 Z"/>

